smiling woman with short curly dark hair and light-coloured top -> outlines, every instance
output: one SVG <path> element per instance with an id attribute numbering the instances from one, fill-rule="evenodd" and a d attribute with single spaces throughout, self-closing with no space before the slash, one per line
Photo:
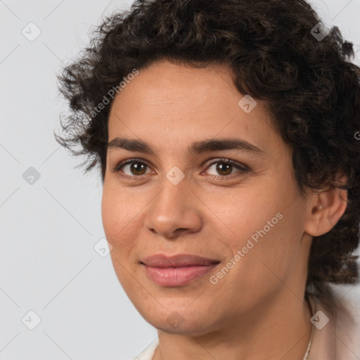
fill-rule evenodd
<path id="1" fill-rule="evenodd" d="M 360 69 L 302 0 L 139 0 L 63 71 L 138 359 L 359 359 Z M 75 150 L 75 146 L 81 148 Z"/>

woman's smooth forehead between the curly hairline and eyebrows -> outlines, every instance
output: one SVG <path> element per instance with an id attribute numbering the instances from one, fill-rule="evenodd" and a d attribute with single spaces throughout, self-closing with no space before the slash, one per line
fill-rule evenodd
<path id="1" fill-rule="evenodd" d="M 226 65 L 191 68 L 161 61 L 139 70 L 115 96 L 109 116 L 109 141 L 116 136 L 183 143 L 240 137 L 262 144 L 279 141 L 264 103 L 247 113 L 245 94 L 233 85 Z M 240 105 L 239 105 L 240 101 Z M 255 105 L 255 103 L 250 103 Z"/>

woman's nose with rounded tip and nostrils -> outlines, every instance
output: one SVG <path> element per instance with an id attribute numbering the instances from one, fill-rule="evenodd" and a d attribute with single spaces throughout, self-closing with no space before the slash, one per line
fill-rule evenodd
<path id="1" fill-rule="evenodd" d="M 176 185 L 165 178 L 162 190 L 148 207 L 146 229 L 166 238 L 177 238 L 199 231 L 202 223 L 201 200 L 188 187 L 186 178 Z"/>

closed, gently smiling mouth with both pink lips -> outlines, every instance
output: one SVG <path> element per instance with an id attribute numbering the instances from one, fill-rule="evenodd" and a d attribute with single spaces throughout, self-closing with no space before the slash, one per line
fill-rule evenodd
<path id="1" fill-rule="evenodd" d="M 195 255 L 153 255 L 140 263 L 151 281 L 162 286 L 182 286 L 204 276 L 219 264 L 219 260 Z"/>

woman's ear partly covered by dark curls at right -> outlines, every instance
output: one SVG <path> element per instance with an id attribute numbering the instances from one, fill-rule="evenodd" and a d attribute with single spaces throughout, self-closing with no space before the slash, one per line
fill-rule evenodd
<path id="1" fill-rule="evenodd" d="M 346 184 L 346 181 L 345 175 L 338 179 L 340 185 Z M 309 216 L 304 231 L 311 236 L 321 236 L 333 229 L 344 214 L 347 207 L 347 190 L 333 187 L 326 191 L 314 192 L 310 195 L 308 204 Z"/>

